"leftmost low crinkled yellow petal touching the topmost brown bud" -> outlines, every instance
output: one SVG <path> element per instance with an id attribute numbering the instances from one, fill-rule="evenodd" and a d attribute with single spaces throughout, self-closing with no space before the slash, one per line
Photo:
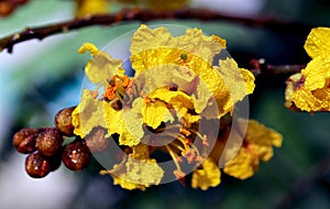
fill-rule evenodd
<path id="1" fill-rule="evenodd" d="M 89 90 L 84 89 L 80 103 L 72 113 L 74 133 L 85 138 L 94 128 L 107 128 L 103 114 L 103 101 L 94 99 Z"/>

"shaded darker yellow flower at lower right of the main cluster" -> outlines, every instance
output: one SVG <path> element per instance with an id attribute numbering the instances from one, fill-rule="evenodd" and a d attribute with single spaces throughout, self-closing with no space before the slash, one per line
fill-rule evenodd
<path id="1" fill-rule="evenodd" d="M 223 168 L 226 174 L 240 179 L 253 176 L 260 161 L 266 162 L 273 156 L 272 146 L 282 145 L 282 136 L 277 132 L 254 120 L 250 120 L 248 125 L 243 146 Z"/>

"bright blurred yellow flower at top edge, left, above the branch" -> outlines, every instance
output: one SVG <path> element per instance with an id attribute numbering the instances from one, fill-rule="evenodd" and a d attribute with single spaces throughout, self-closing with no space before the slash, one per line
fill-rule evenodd
<path id="1" fill-rule="evenodd" d="M 76 16 L 79 18 L 109 12 L 109 0 L 76 0 Z"/>

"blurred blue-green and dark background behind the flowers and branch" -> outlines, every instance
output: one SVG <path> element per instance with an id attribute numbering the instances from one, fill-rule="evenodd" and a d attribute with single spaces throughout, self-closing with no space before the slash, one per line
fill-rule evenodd
<path id="1" fill-rule="evenodd" d="M 326 0 L 211 0 L 194 1 L 238 16 L 273 16 L 302 24 L 330 25 Z M 213 7 L 212 7 L 213 6 Z M 120 6 L 114 4 L 113 11 Z M 69 0 L 30 0 L 9 18 L 0 19 L 0 35 L 74 16 Z M 232 22 L 154 21 L 200 28 L 228 41 L 228 50 L 241 67 L 251 58 L 270 64 L 306 64 L 304 51 L 308 31 L 279 30 Z M 128 191 L 112 186 L 109 176 L 98 175 L 92 163 L 85 172 L 62 166 L 43 179 L 24 170 L 24 155 L 14 152 L 11 140 L 25 127 L 53 127 L 55 113 L 79 102 L 84 65 L 79 55 L 84 42 L 102 48 L 140 23 L 90 26 L 42 41 L 16 44 L 13 53 L 0 53 L 0 208 L 330 208 L 330 116 L 296 113 L 284 107 L 285 78 L 257 78 L 251 101 L 251 118 L 282 133 L 284 143 L 274 157 L 262 163 L 248 180 L 222 175 L 219 187 L 207 191 L 170 183 L 146 191 Z"/>

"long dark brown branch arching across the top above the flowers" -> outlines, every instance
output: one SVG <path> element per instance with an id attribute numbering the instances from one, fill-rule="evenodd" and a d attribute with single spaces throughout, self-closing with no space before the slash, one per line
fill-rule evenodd
<path id="1" fill-rule="evenodd" d="M 237 18 L 226 15 L 208 9 L 182 9 L 177 11 L 154 12 L 141 9 L 124 9 L 117 13 L 102 15 L 89 15 L 80 19 L 73 19 L 66 22 L 44 25 L 40 28 L 28 28 L 24 31 L 14 33 L 0 40 L 0 52 L 8 50 L 12 53 L 13 46 L 29 40 L 43 40 L 50 35 L 66 33 L 73 30 L 91 25 L 112 25 L 125 21 L 151 21 L 151 20 L 200 20 L 200 21 L 230 21 L 244 25 L 263 26 L 279 31 L 293 32 L 296 34 L 309 32 L 314 25 L 288 23 L 270 18 Z M 302 34 L 304 34 L 302 33 Z"/>

